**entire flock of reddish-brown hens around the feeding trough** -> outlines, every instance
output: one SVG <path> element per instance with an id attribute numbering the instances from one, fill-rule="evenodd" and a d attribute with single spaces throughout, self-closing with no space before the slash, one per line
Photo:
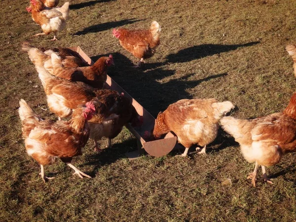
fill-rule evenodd
<path id="1" fill-rule="evenodd" d="M 30 1 L 27 11 L 43 31 L 35 36 L 54 33 L 52 40 L 57 40 L 56 33 L 65 27 L 69 15 L 69 2 L 56 7 L 58 3 L 59 0 Z M 156 21 L 152 22 L 149 30 L 119 28 L 112 34 L 123 48 L 140 59 L 136 67 L 153 56 L 160 43 L 160 26 Z M 97 141 L 102 137 L 109 139 L 111 147 L 111 139 L 121 132 L 125 124 L 141 126 L 143 123 L 143 117 L 123 93 L 104 89 L 107 69 L 114 64 L 112 55 L 101 57 L 89 66 L 69 48 L 36 48 L 24 42 L 22 49 L 28 52 L 35 65 L 50 111 L 59 117 L 59 121 L 43 120 L 24 100 L 20 101 L 19 116 L 27 153 L 40 164 L 44 182 L 52 178 L 44 175 L 43 166 L 53 163 L 57 157 L 74 169 L 74 174 L 80 178 L 90 178 L 71 164 L 74 156 L 81 155 L 88 139 L 94 140 L 95 150 L 100 151 Z M 288 45 L 286 49 L 295 62 L 296 74 L 296 47 Z M 296 151 L 296 93 L 283 112 L 264 117 L 224 117 L 233 108 L 229 101 L 183 99 L 159 112 L 154 128 L 151 132 L 146 131 L 143 137 L 157 140 L 173 132 L 185 147 L 182 156 L 186 156 L 194 144 L 203 147 L 199 153 L 205 154 L 206 146 L 217 137 L 220 122 L 222 128 L 240 144 L 245 159 L 256 163 L 254 172 L 248 177 L 252 184 L 256 186 L 259 165 L 264 181 L 272 184 L 266 176 L 265 166 L 274 165 L 283 154 Z M 69 121 L 61 120 L 69 116 Z"/>

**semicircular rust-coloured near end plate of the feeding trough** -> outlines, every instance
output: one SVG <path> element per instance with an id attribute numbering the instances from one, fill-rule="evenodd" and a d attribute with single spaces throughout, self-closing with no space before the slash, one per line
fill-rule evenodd
<path id="1" fill-rule="evenodd" d="M 149 155 L 160 157 L 172 151 L 176 143 L 177 137 L 170 137 L 144 143 L 143 147 Z"/>

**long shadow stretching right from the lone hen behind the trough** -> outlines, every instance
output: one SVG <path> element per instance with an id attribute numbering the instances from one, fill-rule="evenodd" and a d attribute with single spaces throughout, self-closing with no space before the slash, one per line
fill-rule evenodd
<path id="1" fill-rule="evenodd" d="M 235 50 L 239 47 L 246 47 L 258 44 L 259 41 L 253 41 L 245 44 L 222 45 L 222 44 L 202 44 L 194 45 L 189 48 L 180 50 L 177 53 L 168 55 L 167 62 L 169 63 L 184 63 L 195 59 L 201 59 L 207 56 L 219 54 Z"/>

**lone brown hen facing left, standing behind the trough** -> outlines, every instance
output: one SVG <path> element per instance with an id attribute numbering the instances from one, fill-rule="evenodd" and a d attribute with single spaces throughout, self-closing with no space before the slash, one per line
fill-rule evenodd
<path id="1" fill-rule="evenodd" d="M 140 61 L 136 67 L 141 67 L 144 59 L 152 57 L 160 40 L 160 26 L 156 21 L 151 23 L 149 30 L 113 29 L 113 36 L 119 39 L 120 45 L 132 53 Z"/>

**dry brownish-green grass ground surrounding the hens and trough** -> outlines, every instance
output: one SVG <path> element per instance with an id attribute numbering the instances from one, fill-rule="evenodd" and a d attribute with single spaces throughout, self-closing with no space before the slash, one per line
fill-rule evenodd
<path id="1" fill-rule="evenodd" d="M 207 155 L 189 158 L 124 156 L 136 149 L 124 129 L 113 148 L 98 154 L 89 141 L 73 164 L 93 179 L 79 179 L 60 160 L 45 167 L 25 151 L 17 109 L 25 99 L 43 117 L 45 93 L 21 43 L 80 46 L 93 60 L 112 54 L 111 77 L 152 115 L 184 98 L 229 100 L 232 116 L 282 111 L 296 88 L 292 59 L 295 0 L 71 0 L 70 19 L 58 41 L 26 12 L 29 0 L 1 0 L 0 8 L 0 221 L 296 221 L 296 155 L 268 167 L 273 185 L 246 179 L 254 169 L 222 130 Z M 65 0 L 61 0 L 64 3 Z M 60 3 L 60 4 L 61 4 Z M 148 28 L 159 22 L 161 44 L 141 70 L 122 49 L 113 28 Z M 107 144 L 106 140 L 100 142 Z"/>

